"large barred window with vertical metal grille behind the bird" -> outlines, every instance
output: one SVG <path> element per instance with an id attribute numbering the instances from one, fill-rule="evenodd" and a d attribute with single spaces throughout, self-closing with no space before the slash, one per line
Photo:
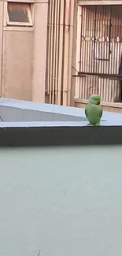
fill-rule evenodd
<path id="1" fill-rule="evenodd" d="M 79 6 L 79 98 L 120 102 L 122 6 Z"/>

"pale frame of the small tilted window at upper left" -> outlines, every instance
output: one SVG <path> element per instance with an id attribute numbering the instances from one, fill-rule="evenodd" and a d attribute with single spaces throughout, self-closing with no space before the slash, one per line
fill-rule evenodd
<path id="1" fill-rule="evenodd" d="M 18 22 L 18 21 L 10 21 L 9 20 L 9 3 L 11 4 L 19 4 L 21 6 L 26 6 L 27 12 L 28 12 L 28 19 L 29 22 Z M 12 27 L 33 27 L 33 22 L 32 22 L 32 17 L 31 17 L 31 4 L 28 2 L 7 2 L 7 26 L 12 26 Z"/>

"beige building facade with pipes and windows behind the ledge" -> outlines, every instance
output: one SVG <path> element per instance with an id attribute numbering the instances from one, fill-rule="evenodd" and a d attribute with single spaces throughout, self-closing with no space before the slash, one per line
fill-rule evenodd
<path id="1" fill-rule="evenodd" d="M 121 109 L 121 1 L 0 1 L 0 96 Z"/>

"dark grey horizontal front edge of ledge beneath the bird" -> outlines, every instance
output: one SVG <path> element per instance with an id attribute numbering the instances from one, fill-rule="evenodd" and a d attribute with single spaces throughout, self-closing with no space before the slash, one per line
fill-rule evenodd
<path id="1" fill-rule="evenodd" d="M 0 128 L 0 147 L 122 144 L 122 126 Z"/>

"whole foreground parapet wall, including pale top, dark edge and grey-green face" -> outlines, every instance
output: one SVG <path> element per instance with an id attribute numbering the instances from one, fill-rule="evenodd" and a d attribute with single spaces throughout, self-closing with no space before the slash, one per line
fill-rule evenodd
<path id="1" fill-rule="evenodd" d="M 87 124 L 84 109 L 0 99 L 0 255 L 121 256 L 122 114 Z"/>

